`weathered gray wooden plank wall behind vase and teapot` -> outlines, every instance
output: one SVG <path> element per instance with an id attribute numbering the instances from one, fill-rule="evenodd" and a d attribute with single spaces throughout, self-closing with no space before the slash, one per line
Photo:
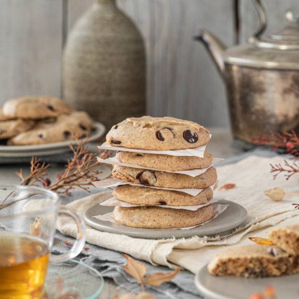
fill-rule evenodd
<path id="1" fill-rule="evenodd" d="M 2 0 L 0 104 L 30 94 L 61 95 L 61 57 L 67 33 L 94 0 Z M 205 126 L 228 126 L 224 84 L 208 53 L 192 38 L 200 28 L 227 45 L 255 31 L 249 0 L 118 0 L 141 31 L 147 51 L 147 113 Z M 263 0 L 269 29 L 299 15 L 297 0 Z M 237 5 L 238 4 L 238 5 Z M 237 17 L 238 15 L 238 17 Z M 239 21 L 239 31 L 236 22 Z"/>

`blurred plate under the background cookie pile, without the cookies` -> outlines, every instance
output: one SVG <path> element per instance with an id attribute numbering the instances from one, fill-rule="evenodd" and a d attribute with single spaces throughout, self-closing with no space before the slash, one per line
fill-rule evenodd
<path id="1" fill-rule="evenodd" d="M 95 123 L 95 132 L 91 134 L 89 141 L 95 141 L 102 137 L 105 133 L 105 126 L 101 123 Z M 61 141 L 61 142 L 53 142 L 53 143 L 47 143 L 47 144 L 38 144 L 38 145 L 0 145 L 0 156 L 19 156 L 22 155 L 23 157 L 28 155 L 32 156 L 32 152 L 38 152 L 39 154 L 42 154 L 43 152 L 47 152 L 49 154 L 49 151 L 65 151 L 70 144 L 75 145 L 76 141 Z"/>

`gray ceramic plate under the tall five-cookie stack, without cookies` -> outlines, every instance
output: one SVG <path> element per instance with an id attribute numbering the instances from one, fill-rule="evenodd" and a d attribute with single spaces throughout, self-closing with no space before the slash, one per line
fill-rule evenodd
<path id="1" fill-rule="evenodd" d="M 113 206 L 95 204 L 84 214 L 85 222 L 101 232 L 127 235 L 135 238 L 163 239 L 163 238 L 189 238 L 193 236 L 211 236 L 230 231 L 242 224 L 247 217 L 243 206 L 228 200 L 219 200 L 219 203 L 229 204 L 228 208 L 212 221 L 191 229 L 155 229 L 155 228 L 134 228 L 122 224 L 102 221 L 93 216 L 103 215 L 112 212 Z"/>

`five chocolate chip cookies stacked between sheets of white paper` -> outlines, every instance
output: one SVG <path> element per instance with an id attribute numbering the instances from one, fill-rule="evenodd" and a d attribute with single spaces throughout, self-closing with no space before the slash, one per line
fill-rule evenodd
<path id="1" fill-rule="evenodd" d="M 205 146 L 210 141 L 207 129 L 191 121 L 144 116 L 114 125 L 106 140 L 111 146 L 122 147 L 116 154 L 119 162 L 139 167 L 113 165 L 113 177 L 124 182 L 113 190 L 113 196 L 136 205 L 129 208 L 116 206 L 113 211 L 116 222 L 142 228 L 182 228 L 199 225 L 214 217 L 214 206 L 207 204 L 213 197 L 211 186 L 217 180 L 216 169 L 210 167 L 213 156 L 207 150 L 203 157 L 157 153 Z M 132 152 L 130 149 L 139 151 Z M 147 153 L 142 150 L 147 150 Z M 148 153 L 148 150 L 155 153 Z M 195 177 L 177 173 L 191 169 L 206 170 Z M 181 189 L 200 189 L 200 193 L 192 196 L 181 192 Z M 200 204 L 205 205 L 193 211 L 160 206 Z"/>

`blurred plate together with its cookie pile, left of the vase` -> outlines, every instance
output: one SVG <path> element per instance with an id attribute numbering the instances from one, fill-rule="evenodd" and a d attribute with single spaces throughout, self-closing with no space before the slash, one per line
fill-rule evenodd
<path id="1" fill-rule="evenodd" d="M 98 140 L 105 126 L 61 99 L 26 96 L 0 109 L 0 157 L 28 157 L 67 152 L 74 136 Z"/>

